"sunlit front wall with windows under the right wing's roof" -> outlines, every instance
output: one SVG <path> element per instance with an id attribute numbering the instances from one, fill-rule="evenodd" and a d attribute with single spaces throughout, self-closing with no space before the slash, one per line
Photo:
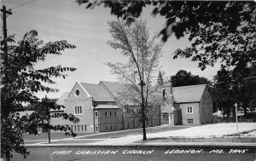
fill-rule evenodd
<path id="1" fill-rule="evenodd" d="M 188 106 L 192 106 L 193 110 L 192 113 L 188 113 Z M 200 112 L 199 112 L 199 106 L 200 102 L 188 102 L 188 103 L 180 103 L 179 107 L 181 109 L 182 113 L 182 121 L 183 125 L 195 125 L 195 124 L 200 124 Z M 189 120 L 193 120 L 192 124 L 189 124 Z"/>

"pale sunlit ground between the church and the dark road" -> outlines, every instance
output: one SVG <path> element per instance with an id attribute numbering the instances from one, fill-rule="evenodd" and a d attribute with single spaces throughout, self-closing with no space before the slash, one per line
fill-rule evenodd
<path id="1" fill-rule="evenodd" d="M 210 147 L 256 147 L 256 141 L 251 142 L 195 142 L 195 141 L 168 141 L 170 138 L 223 138 L 223 137 L 234 137 L 226 135 L 235 135 L 237 133 L 248 132 L 245 136 L 239 137 L 250 137 L 256 138 L 256 124 L 255 123 L 240 123 L 239 130 L 236 130 L 236 124 L 207 124 L 202 126 L 191 127 L 187 129 L 177 129 L 170 131 L 163 131 L 158 133 L 151 133 L 147 135 L 148 141 L 142 141 L 143 135 L 127 135 L 119 138 L 109 138 L 105 140 L 94 141 L 85 143 L 83 140 L 76 138 L 66 139 L 65 141 L 53 142 L 51 144 L 32 144 L 26 145 L 26 147 L 116 147 L 116 146 L 154 146 L 154 147 L 166 147 L 166 146 L 210 146 Z M 162 141 L 159 141 L 162 140 Z"/>

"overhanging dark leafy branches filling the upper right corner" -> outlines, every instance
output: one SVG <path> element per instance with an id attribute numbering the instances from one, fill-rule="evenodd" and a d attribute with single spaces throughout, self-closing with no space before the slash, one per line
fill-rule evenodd
<path id="1" fill-rule="evenodd" d="M 166 26 L 160 31 L 164 42 L 173 34 L 177 38 L 185 34 L 189 35 L 191 47 L 177 49 L 174 59 L 192 57 L 192 60 L 199 61 L 201 70 L 219 62 L 221 64 L 219 71 L 224 69 L 232 72 L 230 77 L 236 80 L 236 84 L 243 83 L 242 80 L 250 77 L 250 68 L 256 66 L 256 3 L 254 1 L 77 0 L 77 2 L 85 3 L 86 9 L 93 9 L 103 3 L 104 7 L 111 9 L 111 14 L 123 18 L 128 24 L 141 15 L 143 7 L 153 5 L 152 14 L 160 14 L 166 18 Z M 255 102 L 255 97 L 252 102 Z"/>

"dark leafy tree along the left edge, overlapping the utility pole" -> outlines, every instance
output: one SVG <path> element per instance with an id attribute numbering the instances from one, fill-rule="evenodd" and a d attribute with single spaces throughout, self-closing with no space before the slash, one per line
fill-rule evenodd
<path id="1" fill-rule="evenodd" d="M 38 61 L 44 61 L 47 55 L 61 55 L 64 49 L 74 49 L 75 45 L 67 41 L 49 42 L 43 44 L 38 40 L 38 32 L 26 32 L 20 42 L 15 43 L 15 36 L 11 35 L 1 41 L 1 158 L 9 160 L 12 152 L 18 152 L 25 158 L 29 154 L 22 134 L 28 129 L 35 129 L 34 124 L 42 123 L 44 119 L 35 117 L 32 120 L 21 118 L 17 111 L 22 110 L 24 103 L 38 102 L 35 95 L 38 91 L 56 92 L 47 84 L 55 84 L 55 78 L 65 78 L 62 72 L 73 72 L 73 67 L 51 66 L 45 69 L 35 69 Z M 8 50 L 3 49 L 8 43 Z M 46 84 L 46 85 L 44 85 Z M 42 104 L 46 102 L 43 101 Z M 53 104 L 49 107 L 55 108 Z M 73 116 L 66 117 L 77 121 Z M 66 128 L 68 130 L 68 128 Z M 73 134 L 73 131 L 70 131 Z"/>

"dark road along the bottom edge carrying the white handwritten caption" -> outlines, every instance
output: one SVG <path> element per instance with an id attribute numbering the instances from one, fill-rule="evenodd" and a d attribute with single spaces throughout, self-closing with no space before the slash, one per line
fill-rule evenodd
<path id="1" fill-rule="evenodd" d="M 255 161 L 254 148 L 209 147 L 32 147 L 26 161 Z M 14 161 L 24 160 L 14 154 Z"/>

